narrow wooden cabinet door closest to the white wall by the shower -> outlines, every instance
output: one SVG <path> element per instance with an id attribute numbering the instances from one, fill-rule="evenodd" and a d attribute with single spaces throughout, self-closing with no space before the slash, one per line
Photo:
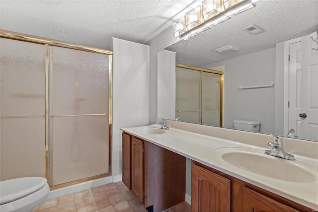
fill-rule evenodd
<path id="1" fill-rule="evenodd" d="M 123 133 L 122 138 L 122 173 L 123 183 L 131 190 L 131 136 Z"/>

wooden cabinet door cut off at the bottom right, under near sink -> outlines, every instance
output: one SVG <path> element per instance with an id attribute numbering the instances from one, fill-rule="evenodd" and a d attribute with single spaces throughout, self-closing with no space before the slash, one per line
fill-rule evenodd
<path id="1" fill-rule="evenodd" d="M 242 188 L 242 202 L 244 212 L 298 212 L 246 187 Z"/>

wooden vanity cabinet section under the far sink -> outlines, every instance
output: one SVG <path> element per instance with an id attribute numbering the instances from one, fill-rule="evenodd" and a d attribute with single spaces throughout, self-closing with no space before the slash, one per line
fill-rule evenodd
<path id="1" fill-rule="evenodd" d="M 184 156 L 127 133 L 122 147 L 123 182 L 148 211 L 162 212 L 184 201 Z"/>

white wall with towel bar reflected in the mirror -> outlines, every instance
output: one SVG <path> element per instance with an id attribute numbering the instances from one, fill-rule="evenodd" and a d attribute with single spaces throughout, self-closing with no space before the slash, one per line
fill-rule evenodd
<path id="1" fill-rule="evenodd" d="M 257 86 L 275 82 L 275 48 L 204 66 L 224 65 L 224 127 L 234 128 L 234 119 L 260 121 L 260 132 L 275 133 L 275 89 L 239 91 L 239 85 Z"/>

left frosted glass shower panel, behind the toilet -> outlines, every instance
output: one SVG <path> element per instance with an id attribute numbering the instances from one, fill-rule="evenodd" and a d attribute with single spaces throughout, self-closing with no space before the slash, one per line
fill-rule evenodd
<path id="1" fill-rule="evenodd" d="M 0 180 L 44 177 L 45 45 L 0 42 Z"/>

